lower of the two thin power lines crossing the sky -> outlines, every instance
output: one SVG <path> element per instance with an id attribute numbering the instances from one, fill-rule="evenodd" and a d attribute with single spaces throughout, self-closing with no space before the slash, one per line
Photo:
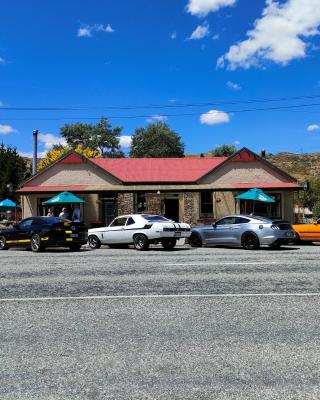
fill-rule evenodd
<path id="1" fill-rule="evenodd" d="M 247 112 L 259 112 L 259 111 L 277 111 L 277 110 L 290 110 L 290 109 L 300 109 L 306 107 L 316 107 L 320 106 L 320 103 L 311 104 L 297 104 L 291 106 L 278 106 L 278 107 L 266 107 L 266 108 L 247 108 L 242 110 L 226 110 L 226 111 L 215 111 L 217 114 L 239 114 Z M 190 116 L 200 116 L 200 115 L 210 115 L 211 112 L 205 113 L 183 113 L 183 114 L 161 114 L 162 117 L 190 117 Z M 108 116 L 108 119 L 136 119 L 136 118 L 152 118 L 153 116 L 148 115 L 112 115 Z M 101 117 L 53 117 L 53 118 L 0 118 L 0 121 L 9 120 L 10 121 L 61 121 L 61 120 L 99 120 Z"/>

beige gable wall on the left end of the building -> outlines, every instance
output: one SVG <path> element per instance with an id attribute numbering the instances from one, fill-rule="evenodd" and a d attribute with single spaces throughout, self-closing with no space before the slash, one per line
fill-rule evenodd
<path id="1" fill-rule="evenodd" d="M 33 178 L 30 186 L 116 185 L 112 175 L 91 164 L 56 164 Z M 28 184 L 25 186 L 28 187 Z"/>

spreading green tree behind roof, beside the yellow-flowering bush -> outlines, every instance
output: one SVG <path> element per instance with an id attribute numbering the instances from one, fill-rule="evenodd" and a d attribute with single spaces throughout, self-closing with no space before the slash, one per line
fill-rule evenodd
<path id="1" fill-rule="evenodd" d="M 61 136 L 72 149 L 83 148 L 98 150 L 102 157 L 124 157 L 120 149 L 121 127 L 112 128 L 107 118 L 102 117 L 97 124 L 65 124 L 60 128 Z"/>

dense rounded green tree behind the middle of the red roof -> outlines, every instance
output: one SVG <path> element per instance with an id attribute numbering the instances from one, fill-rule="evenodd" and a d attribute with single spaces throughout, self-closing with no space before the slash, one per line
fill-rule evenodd
<path id="1" fill-rule="evenodd" d="M 130 157 L 161 158 L 184 157 L 184 144 L 180 135 L 164 122 L 137 128 L 132 136 Z"/>

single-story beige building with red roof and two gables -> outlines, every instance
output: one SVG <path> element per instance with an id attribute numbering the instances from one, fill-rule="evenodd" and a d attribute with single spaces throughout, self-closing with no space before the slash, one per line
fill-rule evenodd
<path id="1" fill-rule="evenodd" d="M 24 182 L 18 192 L 24 218 L 46 215 L 42 202 L 67 190 L 86 201 L 82 217 L 88 225 L 142 212 L 194 225 L 252 212 L 252 203 L 235 196 L 253 187 L 276 200 L 256 203 L 256 214 L 294 221 L 294 194 L 301 186 L 247 148 L 231 157 L 208 158 L 86 159 L 70 152 Z"/>

